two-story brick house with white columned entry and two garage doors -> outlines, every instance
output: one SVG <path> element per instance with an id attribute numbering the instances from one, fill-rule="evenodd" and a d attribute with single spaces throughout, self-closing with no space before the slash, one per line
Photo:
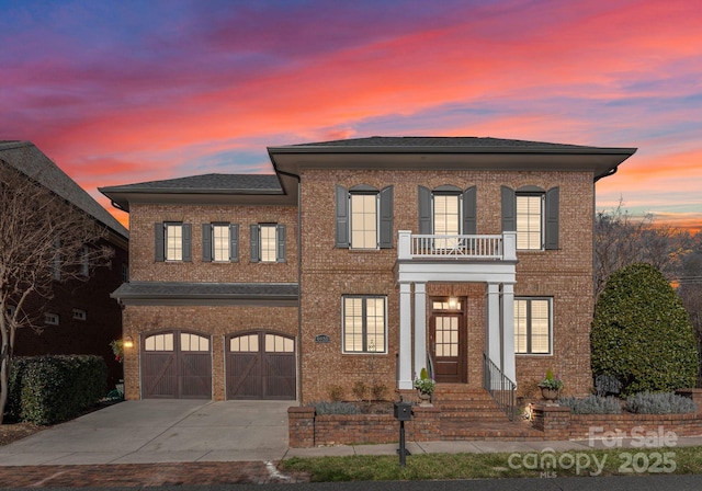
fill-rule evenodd
<path id="1" fill-rule="evenodd" d="M 424 367 L 472 390 L 552 368 L 588 391 L 595 183 L 634 148 L 371 137 L 268 151 L 274 175 L 101 189 L 131 216 L 131 281 L 113 294 L 135 341 L 127 398 L 304 403 L 365 385 L 392 399 Z"/>

